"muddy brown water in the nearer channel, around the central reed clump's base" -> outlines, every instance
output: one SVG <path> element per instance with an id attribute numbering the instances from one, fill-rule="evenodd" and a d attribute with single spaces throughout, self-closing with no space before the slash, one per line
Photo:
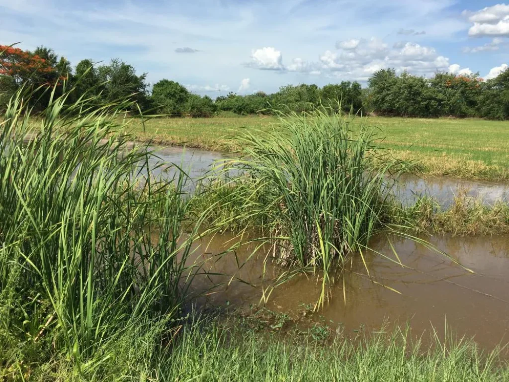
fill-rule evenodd
<path id="1" fill-rule="evenodd" d="M 458 337 L 474 338 L 485 348 L 509 343 L 509 238 L 428 239 L 475 273 L 421 244 L 392 238 L 395 251 L 407 267 L 372 253 L 366 257 L 370 279 L 360 259 L 354 258 L 344 272 L 346 302 L 341 279 L 331 287 L 324 308 L 309 320 L 322 316 L 320 322 L 345 335 L 362 328 L 377 331 L 384 324 L 390 331 L 392 325 L 408 322 L 416 334 L 431 335 L 435 328 L 443 338 L 448 328 Z M 231 240 L 229 235 L 204 238 L 196 252 L 205 253 L 198 257 L 206 261 L 204 270 L 229 275 L 197 276 L 195 287 L 207 290 L 200 299 L 202 306 L 246 310 L 261 303 L 262 287 L 268 287 L 280 274 L 280 269 L 273 266 L 264 273 L 263 248 L 258 256 L 245 261 L 252 256 L 254 243 L 244 245 L 235 255 L 217 257 L 230 247 Z M 394 258 L 387 239 L 379 237 L 371 245 Z M 306 306 L 317 302 L 320 282 L 320 277 L 297 276 L 275 288 L 265 307 L 291 317 L 302 316 Z"/>

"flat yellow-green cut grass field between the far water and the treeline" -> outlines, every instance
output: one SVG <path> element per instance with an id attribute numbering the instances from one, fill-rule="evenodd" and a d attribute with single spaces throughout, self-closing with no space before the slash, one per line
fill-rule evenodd
<path id="1" fill-rule="evenodd" d="M 131 126 L 140 141 L 229 152 L 237 148 L 242 131 L 263 130 L 275 122 L 273 117 L 159 118 Z M 418 160 L 423 173 L 509 180 L 509 122 L 369 117 L 367 123 L 380 128 L 383 146 L 393 156 Z"/>

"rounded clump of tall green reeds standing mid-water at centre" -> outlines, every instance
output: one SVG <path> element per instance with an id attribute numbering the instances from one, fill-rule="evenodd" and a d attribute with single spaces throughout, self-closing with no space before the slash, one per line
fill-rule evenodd
<path id="1" fill-rule="evenodd" d="M 233 193 L 244 206 L 238 219 L 267 216 L 274 257 L 323 269 L 324 290 L 347 256 L 363 258 L 373 235 L 402 234 L 390 224 L 394 203 L 386 175 L 407 163 L 388 158 L 378 131 L 364 120 L 356 131 L 350 122 L 328 110 L 281 115 L 271 129 L 239 138 L 241 157 L 229 161 L 247 175 L 234 184 L 251 182 Z"/>

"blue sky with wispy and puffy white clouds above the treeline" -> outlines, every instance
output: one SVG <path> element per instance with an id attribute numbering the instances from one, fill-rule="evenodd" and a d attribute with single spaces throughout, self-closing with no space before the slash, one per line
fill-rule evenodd
<path id="1" fill-rule="evenodd" d="M 488 0 L 0 0 L 0 44 L 121 58 L 212 97 L 362 84 L 380 68 L 496 76 L 509 4 Z"/>

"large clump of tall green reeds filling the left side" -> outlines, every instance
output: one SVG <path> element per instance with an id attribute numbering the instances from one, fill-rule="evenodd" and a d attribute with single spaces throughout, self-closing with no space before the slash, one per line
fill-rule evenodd
<path id="1" fill-rule="evenodd" d="M 1 125 L 0 369 L 63 352 L 99 373 L 111 344 L 167 329 L 185 302 L 200 225 L 184 224 L 185 174 L 154 182 L 154 154 L 125 149 L 132 102 L 71 95 L 52 94 L 35 126 L 20 90 Z"/>

